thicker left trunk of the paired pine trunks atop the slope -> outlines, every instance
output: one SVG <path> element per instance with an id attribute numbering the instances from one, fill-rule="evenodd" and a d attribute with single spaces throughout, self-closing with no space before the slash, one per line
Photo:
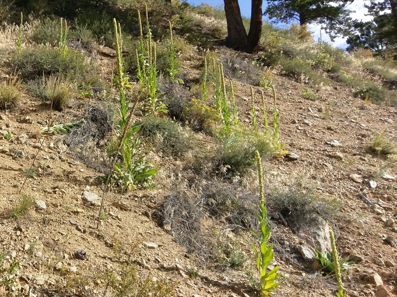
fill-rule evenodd
<path id="1" fill-rule="evenodd" d="M 239 2 L 238 0 L 224 0 L 224 3 L 227 21 L 226 46 L 245 50 L 247 48 L 247 32 L 241 18 Z"/>

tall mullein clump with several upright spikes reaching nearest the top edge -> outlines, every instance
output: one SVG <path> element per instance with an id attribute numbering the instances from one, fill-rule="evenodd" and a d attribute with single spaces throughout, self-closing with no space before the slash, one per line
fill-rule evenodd
<path id="1" fill-rule="evenodd" d="M 145 114 L 156 114 L 159 112 L 167 112 L 166 105 L 162 103 L 160 96 L 159 84 L 157 82 L 157 65 L 156 65 L 156 43 L 152 41 L 152 31 L 148 18 L 146 7 L 146 40 L 143 38 L 141 13 L 138 10 L 139 33 L 141 53 L 136 52 L 137 58 L 137 78 L 141 86 L 141 93 L 146 97 Z"/>

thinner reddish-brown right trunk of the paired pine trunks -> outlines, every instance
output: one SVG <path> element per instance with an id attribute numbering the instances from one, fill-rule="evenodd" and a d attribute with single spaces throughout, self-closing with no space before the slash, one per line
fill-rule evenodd
<path id="1" fill-rule="evenodd" d="M 248 33 L 247 53 L 256 53 L 262 35 L 262 0 L 252 0 L 251 23 Z"/>

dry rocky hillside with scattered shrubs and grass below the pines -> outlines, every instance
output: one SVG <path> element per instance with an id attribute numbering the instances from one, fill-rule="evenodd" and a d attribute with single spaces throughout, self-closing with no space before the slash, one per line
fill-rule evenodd
<path id="1" fill-rule="evenodd" d="M 239 53 L 205 5 L 32 3 L 0 2 L 1 296 L 256 296 L 256 150 L 275 296 L 335 296 L 330 230 L 347 296 L 397 294 L 395 61 L 270 24 Z"/>

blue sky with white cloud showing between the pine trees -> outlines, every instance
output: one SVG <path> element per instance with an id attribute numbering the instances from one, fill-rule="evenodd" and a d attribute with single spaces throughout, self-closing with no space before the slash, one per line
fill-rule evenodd
<path id="1" fill-rule="evenodd" d="M 194 5 L 199 5 L 201 3 L 207 3 L 210 4 L 212 6 L 217 6 L 219 4 L 221 4 L 222 6 L 224 5 L 224 1 L 223 0 L 188 0 L 188 2 L 190 4 L 194 4 Z M 352 13 L 351 16 L 353 17 L 353 19 L 360 19 L 360 20 L 364 20 L 364 21 L 368 21 L 370 19 L 369 16 L 366 16 L 365 13 L 367 13 L 367 10 L 364 8 L 364 2 L 368 2 L 368 0 L 355 0 L 352 4 L 349 5 L 349 9 L 350 10 L 354 10 L 356 11 L 355 13 Z M 240 10 L 241 10 L 241 14 L 245 17 L 250 17 L 251 16 L 251 1 L 249 0 L 240 0 L 239 1 L 239 5 L 240 5 Z M 264 7 L 266 7 L 266 1 L 264 1 Z M 314 38 L 317 40 L 318 38 L 320 38 L 320 26 L 318 25 L 310 25 L 309 29 L 314 32 L 313 36 Z M 324 34 L 324 32 L 322 32 L 322 39 L 324 41 L 328 41 L 331 44 L 333 44 L 333 46 L 339 47 L 339 48 L 346 48 L 347 44 L 346 44 L 346 38 L 342 38 L 342 37 L 337 37 L 335 38 L 334 42 L 330 41 L 330 38 L 328 36 L 326 36 L 326 34 Z"/>

